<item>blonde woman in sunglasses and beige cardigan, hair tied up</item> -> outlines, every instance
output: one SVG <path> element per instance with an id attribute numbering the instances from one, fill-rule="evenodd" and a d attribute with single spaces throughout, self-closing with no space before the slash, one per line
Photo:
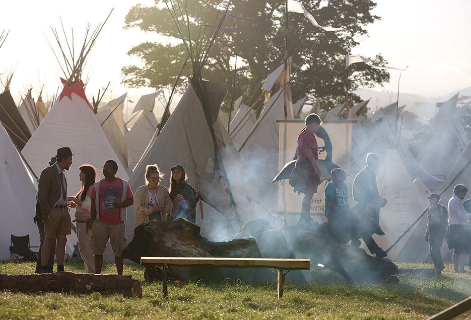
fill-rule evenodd
<path id="1" fill-rule="evenodd" d="M 146 167 L 146 182 L 134 194 L 134 211 L 136 225 L 149 220 L 167 221 L 172 212 L 173 204 L 167 188 L 160 185 L 163 174 L 157 165 Z"/>

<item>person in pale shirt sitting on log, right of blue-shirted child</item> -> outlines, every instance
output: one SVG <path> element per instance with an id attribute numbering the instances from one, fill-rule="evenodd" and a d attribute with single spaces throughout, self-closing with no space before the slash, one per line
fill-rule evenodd
<path id="1" fill-rule="evenodd" d="M 379 156 L 376 153 L 368 153 L 366 167 L 363 168 L 353 181 L 353 199 L 359 203 L 358 210 L 363 210 L 366 215 L 365 222 L 370 222 L 371 233 L 384 235 L 379 225 L 379 212 L 387 203 L 378 191 L 376 182 L 376 170 L 379 167 Z"/>

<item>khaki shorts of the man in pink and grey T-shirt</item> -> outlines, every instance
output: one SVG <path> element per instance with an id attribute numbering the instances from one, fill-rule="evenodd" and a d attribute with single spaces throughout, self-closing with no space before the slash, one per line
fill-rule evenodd
<path id="1" fill-rule="evenodd" d="M 109 240 L 113 254 L 121 257 L 122 251 L 127 247 L 125 227 L 124 223 L 107 224 L 102 221 L 93 221 L 90 241 L 93 255 L 103 256 Z"/>

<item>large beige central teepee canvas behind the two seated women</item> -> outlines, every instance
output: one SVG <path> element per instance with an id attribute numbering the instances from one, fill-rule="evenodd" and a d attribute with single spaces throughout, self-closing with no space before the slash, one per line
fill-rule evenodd
<path id="1" fill-rule="evenodd" d="M 218 107 L 216 109 L 218 112 L 215 112 L 213 129 L 223 161 L 225 164 L 229 161 L 237 162 L 235 148 L 227 130 L 217 116 L 219 105 L 224 99 L 227 89 L 218 84 L 206 83 L 206 85 L 209 96 L 216 96 L 209 101 L 212 101 L 210 104 L 215 104 Z M 213 110 L 211 106 L 209 108 Z M 154 163 L 157 163 L 166 175 L 161 182 L 165 186 L 169 186 L 170 168 L 181 164 L 185 167 L 189 183 L 195 186 L 220 211 L 218 212 L 204 203 L 204 219 L 201 219 L 200 206 L 197 206 L 196 224 L 201 227 L 202 234 L 212 239 L 221 239 L 232 234 L 230 233 L 232 230 L 229 231 L 228 228 L 230 223 L 228 219 L 233 218 L 234 213 L 229 209 L 226 185 L 218 174 L 218 169 L 215 168 L 215 146 L 207 125 L 205 112 L 191 85 L 186 89 L 175 111 L 160 134 L 149 145 L 134 170 L 129 180 L 132 190 L 136 190 L 145 183 L 146 166 Z M 134 217 L 133 214 L 129 214 L 126 226 L 128 237 L 133 235 L 133 226 Z"/>

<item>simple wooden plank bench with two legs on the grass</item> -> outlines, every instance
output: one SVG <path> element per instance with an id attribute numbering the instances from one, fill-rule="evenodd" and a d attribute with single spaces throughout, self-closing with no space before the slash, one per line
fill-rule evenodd
<path id="1" fill-rule="evenodd" d="M 309 259 L 265 259 L 265 258 L 185 258 L 142 257 L 141 265 L 162 267 L 162 292 L 167 291 L 167 267 L 216 266 L 221 268 L 273 268 L 278 270 L 278 297 L 283 296 L 286 274 L 291 270 L 309 270 Z M 287 272 L 283 273 L 286 270 Z"/>

